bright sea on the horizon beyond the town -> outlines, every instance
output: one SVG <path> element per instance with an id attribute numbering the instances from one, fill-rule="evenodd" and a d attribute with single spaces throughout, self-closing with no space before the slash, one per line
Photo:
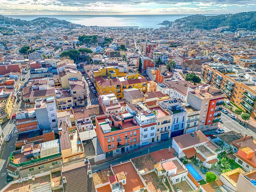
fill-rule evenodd
<path id="1" fill-rule="evenodd" d="M 206 14 L 205 14 L 206 15 Z M 216 15 L 216 14 L 208 14 Z M 208 16 L 206 15 L 206 16 Z M 33 20 L 38 17 L 53 17 L 84 26 L 159 28 L 164 20 L 174 21 L 188 16 L 176 15 L 4 15 L 14 19 Z"/>

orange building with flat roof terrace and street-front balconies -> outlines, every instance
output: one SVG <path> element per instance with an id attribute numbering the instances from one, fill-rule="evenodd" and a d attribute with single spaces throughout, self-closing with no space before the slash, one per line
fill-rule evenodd
<path id="1" fill-rule="evenodd" d="M 131 114 L 100 116 L 95 121 L 97 136 L 106 158 L 139 147 L 140 126 L 135 124 Z"/>

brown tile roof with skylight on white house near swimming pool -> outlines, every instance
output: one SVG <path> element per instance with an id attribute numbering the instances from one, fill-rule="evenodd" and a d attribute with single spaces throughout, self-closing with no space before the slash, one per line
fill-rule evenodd
<path id="1" fill-rule="evenodd" d="M 185 135 L 173 137 L 173 140 L 176 141 L 181 149 L 209 141 L 209 139 L 201 131 L 196 131 L 193 133 L 193 135 L 194 137 L 192 136 L 192 133 L 187 133 Z"/>

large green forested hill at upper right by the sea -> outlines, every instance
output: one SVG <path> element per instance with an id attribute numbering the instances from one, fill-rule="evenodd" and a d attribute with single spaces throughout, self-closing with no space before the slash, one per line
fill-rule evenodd
<path id="1" fill-rule="evenodd" d="M 214 29 L 228 26 L 228 31 L 239 29 L 256 30 L 256 12 L 241 12 L 236 14 L 225 14 L 216 16 L 190 15 L 177 19 L 174 23 L 183 24 L 188 28 Z"/>

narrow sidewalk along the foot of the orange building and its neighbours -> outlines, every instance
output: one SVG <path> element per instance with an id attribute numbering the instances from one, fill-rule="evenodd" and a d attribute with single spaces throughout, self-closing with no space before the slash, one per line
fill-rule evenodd
<path id="1" fill-rule="evenodd" d="M 103 159 L 103 160 L 101 160 L 101 161 L 97 161 L 97 162 L 91 163 L 91 166 L 93 166 L 93 165 L 99 165 L 99 164 L 102 164 L 102 163 L 106 163 L 106 162 L 108 162 L 108 161 L 112 161 L 112 160 L 114 160 L 114 159 L 118 159 L 119 157 L 127 156 L 127 155 L 133 154 L 133 153 L 135 153 L 135 152 L 137 152 L 137 151 L 140 151 L 140 150 L 149 148 L 149 147 L 154 146 L 154 145 L 163 144 L 163 143 L 166 143 L 166 142 L 172 142 L 172 139 L 168 139 L 168 140 L 165 140 L 165 141 L 160 141 L 160 142 L 152 143 L 152 144 L 145 145 L 145 146 L 142 146 L 142 147 L 140 147 L 140 148 L 134 149 L 134 150 L 132 150 L 132 151 L 127 151 L 127 152 L 122 153 L 122 154 L 120 154 L 120 155 L 108 157 L 108 158 Z"/>

